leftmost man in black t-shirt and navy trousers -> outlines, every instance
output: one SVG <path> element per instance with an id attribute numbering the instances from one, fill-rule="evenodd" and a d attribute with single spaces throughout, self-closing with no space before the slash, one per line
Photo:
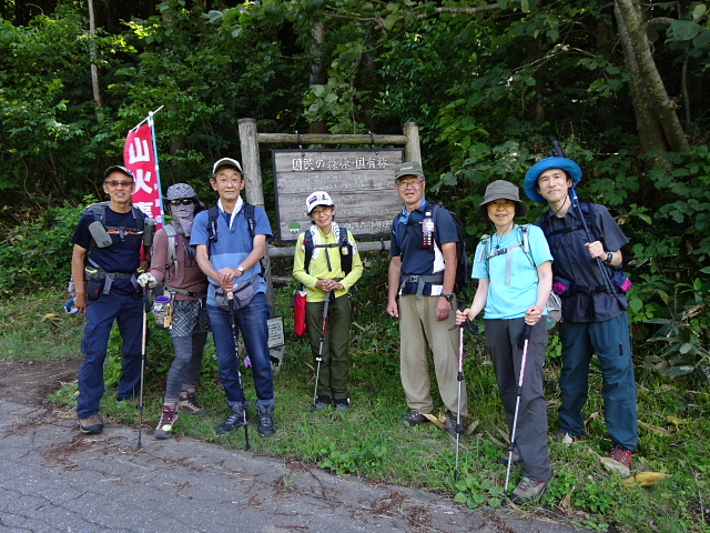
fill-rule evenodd
<path id="1" fill-rule="evenodd" d="M 79 371 L 77 415 L 82 433 L 101 433 L 99 404 L 105 385 L 103 363 L 113 321 L 123 339 L 123 363 L 116 400 L 130 400 L 140 386 L 143 301 L 135 273 L 141 261 L 145 217 L 133 208 L 135 180 L 123 167 L 104 172 L 103 191 L 108 204 L 88 209 L 79 220 L 71 242 L 74 245 L 71 273 L 77 288 L 74 304 L 87 316 Z M 98 242 L 98 240 L 100 242 Z"/>

